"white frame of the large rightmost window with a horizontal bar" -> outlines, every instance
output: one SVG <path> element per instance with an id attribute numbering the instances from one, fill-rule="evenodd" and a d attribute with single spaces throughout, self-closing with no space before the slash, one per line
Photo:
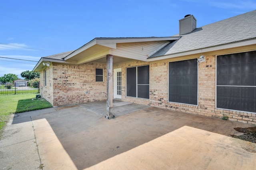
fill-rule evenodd
<path id="1" fill-rule="evenodd" d="M 215 55 L 215 109 L 228 110 L 228 111 L 238 111 L 238 112 L 242 112 L 242 113 L 256 114 L 256 112 L 252 112 L 252 111 L 243 111 L 243 110 L 235 110 L 235 109 L 227 109 L 227 108 L 217 107 L 217 87 L 218 86 L 224 86 L 224 85 L 217 85 L 217 69 L 218 69 L 217 57 L 220 56 L 220 55 L 232 55 L 232 54 L 246 53 L 246 52 L 251 52 L 251 51 L 256 51 L 256 50 L 248 50 L 248 51 L 240 51 L 240 52 L 235 52 L 235 53 L 224 53 L 224 54 Z M 225 85 L 225 86 L 226 87 L 238 87 L 238 86 L 233 86 L 233 85 Z M 256 87 L 256 86 L 239 86 L 239 87 Z"/>

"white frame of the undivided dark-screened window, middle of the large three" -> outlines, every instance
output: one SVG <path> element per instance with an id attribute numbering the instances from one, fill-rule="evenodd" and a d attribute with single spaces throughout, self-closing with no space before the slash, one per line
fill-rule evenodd
<path id="1" fill-rule="evenodd" d="M 186 61 L 186 60 L 193 60 L 193 59 L 196 59 L 197 60 L 197 58 L 192 58 L 192 59 L 184 59 L 184 60 L 177 60 L 177 61 Z M 173 62 L 177 62 L 177 61 L 169 61 L 168 62 L 168 69 L 167 69 L 167 77 L 168 77 L 168 83 L 167 83 L 167 90 L 168 90 L 168 94 L 167 94 L 167 98 L 168 98 L 168 103 L 174 103 L 174 104 L 186 104 L 186 103 L 179 103 L 179 102 L 170 102 L 169 101 L 169 94 L 170 94 L 170 92 L 169 92 L 169 63 L 173 63 Z M 198 62 L 197 62 L 197 97 L 196 97 L 196 99 L 197 99 L 197 101 L 196 101 L 196 105 L 194 105 L 194 104 L 186 104 L 186 105 L 189 105 L 189 106 L 198 106 L 198 89 L 199 89 L 199 71 L 198 71 Z"/>

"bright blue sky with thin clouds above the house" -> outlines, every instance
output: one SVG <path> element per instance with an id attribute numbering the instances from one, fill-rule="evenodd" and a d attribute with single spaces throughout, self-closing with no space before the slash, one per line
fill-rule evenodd
<path id="1" fill-rule="evenodd" d="M 192 14 L 197 27 L 256 9 L 256 0 L 6 0 L 0 3 L 0 76 L 96 37 L 167 37 Z"/>

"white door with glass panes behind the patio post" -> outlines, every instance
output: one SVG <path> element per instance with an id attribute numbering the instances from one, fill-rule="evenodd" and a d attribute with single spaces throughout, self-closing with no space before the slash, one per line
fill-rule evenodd
<path id="1" fill-rule="evenodd" d="M 114 69 L 114 98 L 121 99 L 121 82 L 122 82 L 122 76 L 121 76 L 121 68 Z"/>

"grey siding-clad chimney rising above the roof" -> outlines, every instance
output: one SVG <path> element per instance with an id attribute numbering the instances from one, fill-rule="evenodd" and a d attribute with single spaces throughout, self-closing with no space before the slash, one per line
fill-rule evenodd
<path id="1" fill-rule="evenodd" d="M 180 35 L 190 33 L 196 29 L 196 18 L 193 15 L 186 15 L 180 22 Z"/>

